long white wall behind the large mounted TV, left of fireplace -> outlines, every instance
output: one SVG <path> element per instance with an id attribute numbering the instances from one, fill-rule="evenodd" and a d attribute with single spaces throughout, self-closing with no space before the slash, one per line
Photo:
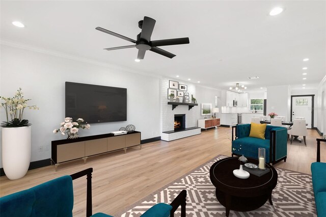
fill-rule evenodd
<path id="1" fill-rule="evenodd" d="M 65 118 L 65 82 L 127 88 L 127 121 L 91 124 L 90 130 L 80 131 L 80 137 L 109 133 L 127 124 L 142 132 L 142 140 L 160 136 L 158 78 L 2 45 L 1 96 L 12 97 L 20 87 L 25 98 L 40 107 L 26 110 L 23 117 L 32 123 L 31 161 L 50 158 L 51 151 L 38 152 L 39 146 L 66 138 L 52 133 Z M 1 122 L 4 114 L 1 109 Z"/>

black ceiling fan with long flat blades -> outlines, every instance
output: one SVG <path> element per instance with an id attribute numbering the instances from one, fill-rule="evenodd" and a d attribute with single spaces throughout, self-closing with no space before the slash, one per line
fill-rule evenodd
<path id="1" fill-rule="evenodd" d="M 151 41 L 151 35 L 154 29 L 156 20 L 150 18 L 150 17 L 144 17 L 144 20 L 141 20 L 138 22 L 138 26 L 140 29 L 142 29 L 142 32 L 137 35 L 137 40 L 133 40 L 131 38 L 119 35 L 117 33 L 105 30 L 100 27 L 96 27 L 96 30 L 99 30 L 103 33 L 107 33 L 113 36 L 116 36 L 118 38 L 122 38 L 124 40 L 130 41 L 132 43 L 135 43 L 135 45 L 128 45 L 128 46 L 121 46 L 121 47 L 111 47 L 111 48 L 104 48 L 104 50 L 117 50 L 117 49 L 124 49 L 124 48 L 131 48 L 135 47 L 138 49 L 138 60 L 143 60 L 145 56 L 146 50 L 153 51 L 155 53 L 158 53 L 160 55 L 163 55 L 168 58 L 174 58 L 175 55 L 173 53 L 170 53 L 166 50 L 163 50 L 161 48 L 158 48 L 157 46 L 166 46 L 166 45 L 176 45 L 176 44 L 189 44 L 189 38 L 174 38 L 174 39 L 165 39 L 165 40 L 156 40 Z"/>

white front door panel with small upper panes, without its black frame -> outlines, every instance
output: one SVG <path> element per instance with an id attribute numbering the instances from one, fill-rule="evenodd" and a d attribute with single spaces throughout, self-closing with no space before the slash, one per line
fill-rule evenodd
<path id="1" fill-rule="evenodd" d="M 292 97 L 292 121 L 295 117 L 304 117 L 308 128 L 311 128 L 312 96 Z"/>

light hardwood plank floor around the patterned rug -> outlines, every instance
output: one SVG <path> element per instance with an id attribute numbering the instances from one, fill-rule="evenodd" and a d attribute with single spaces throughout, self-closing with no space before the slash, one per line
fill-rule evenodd
<path id="1" fill-rule="evenodd" d="M 278 168 L 310 172 L 316 160 L 316 130 L 308 130 L 307 147 L 304 143 L 288 142 L 286 162 Z M 219 127 L 172 142 L 157 141 L 124 151 L 90 157 L 83 160 L 30 170 L 19 180 L 0 177 L 0 196 L 5 196 L 63 175 L 93 167 L 93 213 L 114 215 L 134 202 L 141 200 L 185 173 L 204 164 L 213 157 L 231 155 L 231 128 Z M 321 161 L 326 162 L 326 145 L 321 144 Z M 74 180 L 74 216 L 86 216 L 86 179 Z"/>

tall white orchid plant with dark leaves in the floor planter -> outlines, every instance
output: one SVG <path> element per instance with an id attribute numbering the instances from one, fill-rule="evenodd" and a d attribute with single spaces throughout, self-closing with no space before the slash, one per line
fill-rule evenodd
<path id="1" fill-rule="evenodd" d="M 28 105 L 31 99 L 24 99 L 21 88 L 17 90 L 14 97 L 0 96 L 0 107 L 5 108 L 7 121 L 1 124 L 2 127 L 22 127 L 30 126 L 29 120 L 22 119 L 24 109 L 29 108 L 32 110 L 39 110 L 36 105 Z"/>

